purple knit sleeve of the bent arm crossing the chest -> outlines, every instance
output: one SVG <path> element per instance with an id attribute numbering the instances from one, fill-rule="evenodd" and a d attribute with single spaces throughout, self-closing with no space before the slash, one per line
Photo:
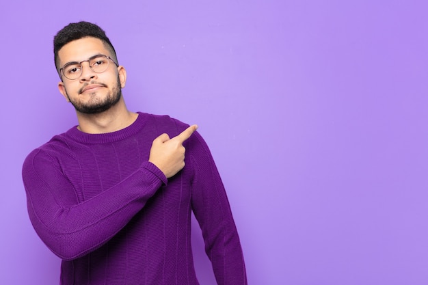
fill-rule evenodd
<path id="1" fill-rule="evenodd" d="M 23 182 L 29 217 L 40 239 L 59 258 L 73 260 L 109 241 L 167 180 L 145 162 L 117 185 L 78 202 L 54 159 L 34 150 L 23 164 Z"/>

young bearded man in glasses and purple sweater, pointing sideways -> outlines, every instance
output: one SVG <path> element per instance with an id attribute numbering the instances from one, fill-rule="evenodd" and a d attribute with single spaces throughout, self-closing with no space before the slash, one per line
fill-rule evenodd
<path id="1" fill-rule="evenodd" d="M 247 284 L 222 181 L 197 126 L 133 113 L 105 32 L 72 23 L 54 39 L 59 92 L 79 125 L 23 165 L 29 217 L 62 258 L 61 284 L 198 284 L 191 211 L 218 284 Z"/>

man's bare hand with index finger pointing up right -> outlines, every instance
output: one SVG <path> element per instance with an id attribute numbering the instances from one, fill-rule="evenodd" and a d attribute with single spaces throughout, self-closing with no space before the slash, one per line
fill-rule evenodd
<path id="1" fill-rule="evenodd" d="M 170 137 L 163 133 L 159 135 L 150 148 L 150 157 L 148 161 L 156 165 L 166 178 L 174 176 L 183 167 L 185 167 L 185 148 L 183 142 L 196 131 L 198 126 L 194 124 L 186 128 L 180 135 Z"/>

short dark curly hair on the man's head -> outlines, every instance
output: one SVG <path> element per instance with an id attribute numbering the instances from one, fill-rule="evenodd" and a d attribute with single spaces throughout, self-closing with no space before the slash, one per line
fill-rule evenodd
<path id="1" fill-rule="evenodd" d="M 116 56 L 116 51 L 114 50 L 113 44 L 111 44 L 109 38 L 105 36 L 105 31 L 98 27 L 98 25 L 81 21 L 79 23 L 70 23 L 66 25 L 62 30 L 58 31 L 57 35 L 53 38 L 53 55 L 55 61 L 55 67 L 57 68 L 57 72 L 59 77 L 61 74 L 59 72 L 59 58 L 58 51 L 62 49 L 62 47 L 73 40 L 79 40 L 81 38 L 98 38 L 103 41 L 105 47 L 111 52 L 113 59 L 115 62 L 118 62 L 118 58 Z"/>

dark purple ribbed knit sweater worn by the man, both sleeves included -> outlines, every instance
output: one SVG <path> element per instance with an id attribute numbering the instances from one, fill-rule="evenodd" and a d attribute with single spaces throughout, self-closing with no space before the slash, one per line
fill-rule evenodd
<path id="1" fill-rule="evenodd" d="M 247 284 L 226 192 L 202 137 L 185 141 L 185 168 L 168 180 L 148 162 L 153 139 L 186 127 L 139 113 L 113 133 L 73 127 L 25 159 L 29 217 L 63 260 L 61 284 L 198 284 L 191 211 L 217 283 Z"/>

